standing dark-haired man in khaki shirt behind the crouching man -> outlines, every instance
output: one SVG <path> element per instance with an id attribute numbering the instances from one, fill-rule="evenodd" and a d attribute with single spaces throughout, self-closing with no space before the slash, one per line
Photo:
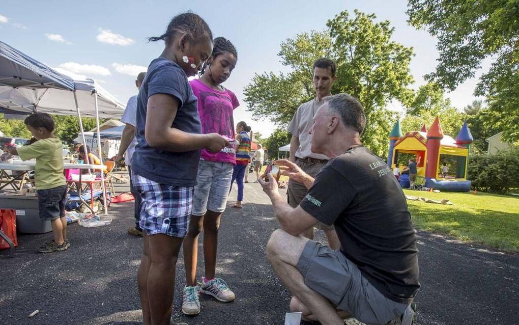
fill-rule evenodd
<path id="1" fill-rule="evenodd" d="M 288 131 L 292 134 L 290 140 L 290 160 L 312 177 L 315 177 L 330 159 L 324 154 L 312 152 L 309 131 L 312 127 L 313 118 L 317 114 L 319 107 L 324 103 L 323 98 L 332 95 L 332 85 L 337 79 L 335 76 L 336 71 L 337 64 L 331 59 L 321 58 L 313 62 L 312 82 L 316 90 L 316 98 L 299 106 L 288 128 Z M 296 207 L 299 205 L 299 202 L 305 197 L 307 190 L 303 184 L 290 179 L 287 191 L 290 206 Z M 326 233 L 330 248 L 339 249 L 340 243 L 333 226 L 320 222 L 316 225 L 316 228 Z M 303 236 L 313 239 L 313 227 L 307 229 Z"/>

